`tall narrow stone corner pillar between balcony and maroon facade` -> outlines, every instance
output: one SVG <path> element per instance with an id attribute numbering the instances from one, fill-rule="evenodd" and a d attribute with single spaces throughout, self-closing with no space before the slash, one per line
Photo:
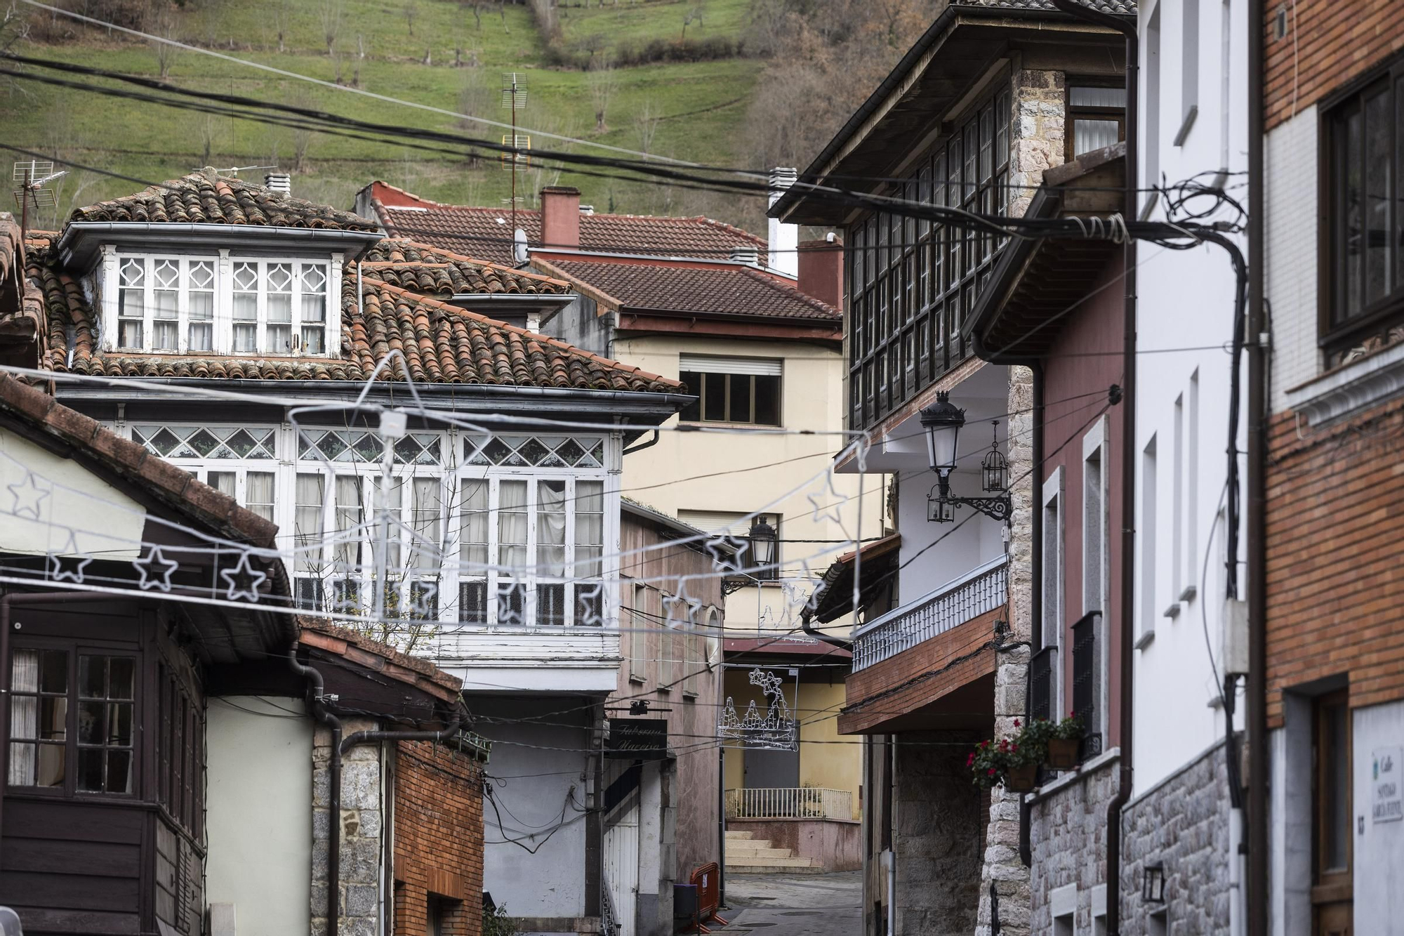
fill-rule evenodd
<path id="1" fill-rule="evenodd" d="M 1031 74 L 1022 72 L 1021 74 Z M 1046 74 L 1046 73 L 1032 73 Z M 1057 77 L 1061 87 L 1061 76 Z M 1059 93 L 1061 96 L 1061 91 Z M 1061 97 L 1059 97 L 1061 101 Z M 1061 114 L 1061 103 L 1059 104 Z M 1061 118 L 1059 118 L 1061 128 Z M 1061 153 L 1061 142 L 1057 153 Z M 1021 209 L 1022 211 L 1022 209 Z M 1009 632 L 1007 644 L 1024 642 L 1024 646 L 997 654 L 998 669 L 994 673 L 994 736 L 1004 738 L 1015 731 L 1015 720 L 1025 715 L 1025 686 L 1028 684 L 1029 648 L 1033 634 L 1033 371 L 1028 367 L 1009 368 L 1009 434 L 1008 458 L 1009 496 L 1014 513 L 1009 523 Z M 977 936 L 990 936 L 991 904 L 990 885 L 1000 895 L 1000 932 L 1008 936 L 1026 936 L 1029 932 L 1029 869 L 1019 857 L 1019 795 L 995 787 L 990 797 L 990 825 L 986 832 L 984 863 L 980 869 L 980 912 L 976 925 Z"/>

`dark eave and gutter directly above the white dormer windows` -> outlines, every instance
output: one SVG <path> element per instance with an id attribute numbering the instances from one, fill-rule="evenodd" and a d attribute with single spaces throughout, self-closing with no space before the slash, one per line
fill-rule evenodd
<path id="1" fill-rule="evenodd" d="M 383 240 L 376 230 L 345 230 L 343 228 L 272 228 L 265 225 L 204 225 L 159 221 L 70 221 L 55 245 L 63 266 L 87 268 L 97 257 L 98 246 L 150 247 L 168 242 L 190 247 L 211 249 L 237 243 L 250 250 L 307 250 L 309 246 L 330 252 L 344 252 L 355 259 L 371 245 Z"/>

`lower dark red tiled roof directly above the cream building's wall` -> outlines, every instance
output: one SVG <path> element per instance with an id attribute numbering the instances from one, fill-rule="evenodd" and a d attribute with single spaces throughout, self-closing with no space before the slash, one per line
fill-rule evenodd
<path id="1" fill-rule="evenodd" d="M 746 315 L 837 323 L 838 309 L 753 267 L 536 260 L 543 270 L 592 287 L 621 308 L 692 315 Z"/>

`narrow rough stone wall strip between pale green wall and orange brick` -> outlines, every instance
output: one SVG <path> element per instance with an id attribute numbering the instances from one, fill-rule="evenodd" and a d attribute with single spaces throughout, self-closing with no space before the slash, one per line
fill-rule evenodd
<path id="1" fill-rule="evenodd" d="M 375 729 L 369 720 L 347 718 L 343 736 Z M 317 725 L 312 742 L 312 936 L 327 929 L 327 843 L 331 793 L 331 732 Z M 380 748 L 359 745 L 341 758 L 341 815 L 336 824 L 341 835 L 340 933 L 341 936 L 378 936 L 380 881 Z"/>

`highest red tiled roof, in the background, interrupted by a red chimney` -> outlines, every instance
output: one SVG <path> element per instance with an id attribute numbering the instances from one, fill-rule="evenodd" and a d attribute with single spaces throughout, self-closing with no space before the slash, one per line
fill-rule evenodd
<path id="1" fill-rule="evenodd" d="M 390 236 L 410 238 L 496 263 L 512 263 L 510 211 L 444 205 L 379 181 L 371 184 L 371 204 Z M 517 226 L 526 232 L 529 246 L 543 246 L 539 211 L 518 208 Z M 702 216 L 608 214 L 580 216 L 581 250 L 724 260 L 731 247 L 739 246 L 765 250 L 765 240 L 740 228 Z"/>

